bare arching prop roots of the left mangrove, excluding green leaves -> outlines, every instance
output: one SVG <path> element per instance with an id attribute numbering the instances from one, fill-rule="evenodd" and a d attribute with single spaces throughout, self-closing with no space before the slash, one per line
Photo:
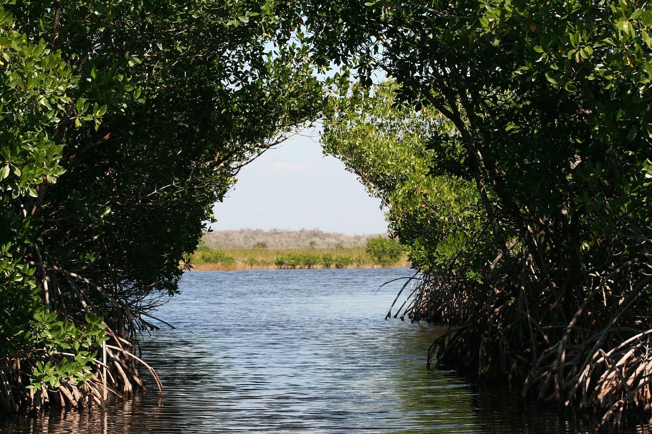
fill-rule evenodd
<path id="1" fill-rule="evenodd" d="M 38 388 L 30 387 L 35 381 L 38 364 L 74 360 L 75 351 L 21 347 L 16 354 L 3 354 L 0 356 L 0 410 L 40 412 L 48 407 L 78 409 L 104 405 L 111 396 L 126 398 L 134 390 L 144 388 L 137 369 L 139 366 L 144 366 L 152 374 L 161 393 L 162 383 L 155 370 L 136 354 L 141 332 L 156 328 L 143 317 L 173 327 L 147 313 L 160 306 L 165 295 L 143 298 L 138 288 L 130 287 L 135 285 L 133 282 L 91 280 L 78 270 L 65 270 L 49 264 L 36 244 L 31 247 L 35 250 L 35 260 L 28 263 L 40 272 L 41 297 L 46 302 L 46 310 L 55 313 L 57 319 L 65 319 L 80 328 L 86 326 L 87 314 L 102 317 L 108 340 L 85 349 L 97 354 L 93 364 L 83 370 L 87 379 L 73 381 L 64 377 L 52 383 L 44 382 Z"/>

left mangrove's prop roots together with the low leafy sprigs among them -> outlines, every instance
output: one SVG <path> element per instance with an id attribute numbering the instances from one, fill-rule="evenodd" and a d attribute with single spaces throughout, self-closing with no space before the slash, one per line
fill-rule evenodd
<path id="1" fill-rule="evenodd" d="M 58 320 L 57 327 L 67 331 L 57 340 L 37 334 L 39 343 L 24 341 L 0 356 L 0 411 L 102 406 L 111 396 L 126 398 L 144 387 L 137 369 L 141 365 L 161 392 L 158 375 L 134 354 L 134 347 L 141 332 L 158 328 L 143 317 L 169 325 L 147 311 L 170 294 L 143 297 L 138 282 L 128 280 L 99 285 L 80 272 L 48 264 L 38 246 L 31 246 L 38 254 L 29 265 L 40 270 L 48 321 Z M 85 331 L 88 335 L 80 338 Z"/>

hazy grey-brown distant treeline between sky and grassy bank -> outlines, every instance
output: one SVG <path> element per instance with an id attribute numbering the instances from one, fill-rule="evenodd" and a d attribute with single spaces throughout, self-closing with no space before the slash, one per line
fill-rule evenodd
<path id="1" fill-rule="evenodd" d="M 335 249 L 364 247 L 370 238 L 387 237 L 387 233 L 367 235 L 346 235 L 344 233 L 324 232 L 320 229 L 237 229 L 233 231 L 213 231 L 203 235 L 203 242 L 212 249 Z"/>

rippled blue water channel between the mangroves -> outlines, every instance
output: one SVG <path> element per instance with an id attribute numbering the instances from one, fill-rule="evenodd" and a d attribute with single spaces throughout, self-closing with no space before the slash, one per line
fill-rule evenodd
<path id="1" fill-rule="evenodd" d="M 2 433 L 593 432 L 510 390 L 426 371 L 441 330 L 385 321 L 406 269 L 191 272 L 145 336 L 164 383 L 108 411 L 2 420 Z"/>

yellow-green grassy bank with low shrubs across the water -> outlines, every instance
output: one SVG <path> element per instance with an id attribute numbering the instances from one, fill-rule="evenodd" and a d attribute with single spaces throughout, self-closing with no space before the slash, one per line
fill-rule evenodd
<path id="1" fill-rule="evenodd" d="M 393 263 L 379 263 L 364 247 L 334 249 L 220 249 L 201 246 L 192 255 L 195 270 L 250 270 L 252 268 L 378 268 L 409 267 L 401 255 Z"/>

